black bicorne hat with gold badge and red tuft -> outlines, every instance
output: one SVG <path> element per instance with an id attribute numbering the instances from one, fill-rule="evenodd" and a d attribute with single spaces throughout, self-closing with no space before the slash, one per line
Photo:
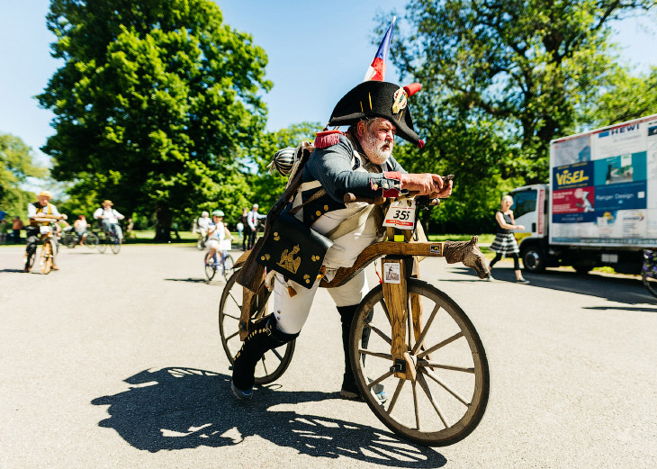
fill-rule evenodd
<path id="1" fill-rule="evenodd" d="M 344 95 L 336 104 L 329 125 L 353 125 L 367 117 L 383 117 L 397 128 L 397 135 L 421 146 L 413 130 L 408 97 L 420 89 L 419 83 L 399 86 L 385 81 L 365 81 Z"/>

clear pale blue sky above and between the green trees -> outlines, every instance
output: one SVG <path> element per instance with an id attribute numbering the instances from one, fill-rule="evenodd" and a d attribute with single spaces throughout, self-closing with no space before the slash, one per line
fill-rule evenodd
<path id="1" fill-rule="evenodd" d="M 402 15 L 404 5 L 400 0 L 216 3 L 225 23 L 251 33 L 266 50 L 267 77 L 274 82 L 265 96 L 269 130 L 303 121 L 326 123 L 338 99 L 363 80 L 374 58 L 375 14 L 397 8 Z M 52 113 L 40 109 L 33 96 L 60 65 L 49 56 L 54 36 L 45 25 L 48 9 L 48 0 L 0 0 L 0 132 L 22 138 L 44 163 L 48 158 L 39 147 L 53 132 Z M 622 59 L 641 71 L 657 65 L 657 36 L 649 24 L 646 18 L 615 24 Z M 391 65 L 386 78 L 396 81 Z"/>

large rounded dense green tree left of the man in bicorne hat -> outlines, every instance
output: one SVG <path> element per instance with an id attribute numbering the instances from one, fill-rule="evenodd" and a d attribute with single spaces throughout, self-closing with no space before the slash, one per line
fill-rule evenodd
<path id="1" fill-rule="evenodd" d="M 51 0 L 52 55 L 39 95 L 57 131 L 43 151 L 76 197 L 173 219 L 247 192 L 239 155 L 263 130 L 266 54 L 210 0 Z M 86 195 L 85 195 L 86 194 Z"/>

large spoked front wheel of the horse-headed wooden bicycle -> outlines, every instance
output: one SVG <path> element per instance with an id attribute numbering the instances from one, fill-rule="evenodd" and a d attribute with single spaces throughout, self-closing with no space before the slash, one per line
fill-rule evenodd
<path id="1" fill-rule="evenodd" d="M 418 376 L 421 377 L 415 385 L 392 375 L 389 370 L 392 365 L 390 345 L 383 338 L 390 338 L 392 334 L 390 324 L 384 317 L 383 306 L 381 306 L 384 304 L 383 288 L 379 285 L 365 296 L 356 311 L 356 320 L 352 324 L 351 330 L 352 368 L 355 370 L 356 382 L 365 401 L 386 427 L 401 437 L 420 445 L 452 445 L 472 433 L 483 417 L 488 403 L 490 386 L 488 361 L 482 341 L 472 322 L 445 293 L 430 284 L 415 279 L 409 281 L 409 293 L 419 294 L 424 297 L 423 303 L 432 304 L 430 309 L 426 308 L 423 312 L 422 316 L 425 322 L 423 330 L 426 329 L 430 316 L 434 314 L 433 311 L 437 310 L 435 319 L 429 323 L 425 344 L 428 349 L 439 347 L 428 356 L 421 356 L 421 351 L 417 354 L 426 360 L 426 363 L 432 365 L 419 366 L 419 370 L 422 371 L 418 372 Z M 362 347 L 363 331 L 365 323 L 368 322 L 367 313 L 373 307 L 372 325 L 374 329 L 368 328 L 371 332 L 367 350 L 380 353 L 380 355 L 371 356 L 368 352 L 364 364 L 362 360 L 364 355 L 361 354 L 364 349 Z M 377 318 L 377 316 L 380 317 Z M 385 329 L 386 323 L 388 329 Z M 445 334 L 441 332 L 442 330 L 445 330 Z M 379 335 L 380 333 L 383 336 Z M 407 346 L 409 344 L 408 333 L 409 324 L 406 329 Z M 436 339 L 434 333 L 446 337 L 443 340 Z M 445 343 L 441 346 L 443 342 Z M 382 347 L 377 347 L 377 343 L 380 343 Z M 448 347 L 458 347 L 457 350 L 460 350 L 461 355 L 459 360 L 464 358 L 469 363 L 464 364 L 460 361 L 450 363 L 449 358 L 442 357 Z M 376 363 L 377 361 L 379 364 Z M 383 377 L 386 374 L 387 376 Z M 381 379 L 382 377 L 383 379 Z M 465 384 L 461 385 L 461 382 Z M 375 391 L 379 391 L 375 386 L 380 383 L 386 384 L 385 390 L 388 392 L 388 401 L 384 404 L 375 395 Z M 456 386 L 455 383 L 459 385 Z M 425 388 L 428 388 L 433 396 L 436 406 L 430 402 Z M 455 397 L 453 392 L 458 397 Z M 469 405 L 459 400 L 469 403 Z M 424 404 L 423 408 L 419 409 L 422 404 Z"/>

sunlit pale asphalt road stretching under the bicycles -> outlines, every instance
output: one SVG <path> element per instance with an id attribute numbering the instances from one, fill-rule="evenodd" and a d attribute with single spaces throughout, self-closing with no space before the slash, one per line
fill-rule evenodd
<path id="1" fill-rule="evenodd" d="M 20 272 L 0 247 L 0 468 L 654 468 L 657 301 L 636 279 L 563 271 L 478 280 L 444 259 L 423 278 L 468 313 L 491 400 L 470 437 L 395 437 L 338 398 L 338 313 L 318 293 L 292 365 L 236 404 L 220 346 L 221 281 L 189 246 L 63 248 Z M 371 274 L 371 273 L 370 273 Z"/>

